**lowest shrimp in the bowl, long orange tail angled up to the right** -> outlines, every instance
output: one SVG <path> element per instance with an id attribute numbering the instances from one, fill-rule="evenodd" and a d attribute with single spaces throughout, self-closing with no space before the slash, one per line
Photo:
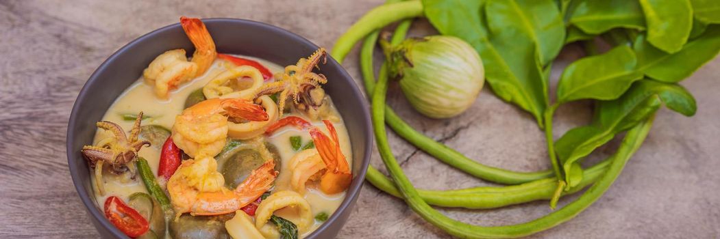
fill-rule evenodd
<path id="1" fill-rule="evenodd" d="M 183 161 L 167 186 L 176 217 L 185 212 L 220 215 L 240 210 L 272 187 L 278 174 L 274 167 L 274 160 L 265 161 L 238 187 L 230 190 L 223 186 L 225 179 L 217 172 L 217 161 L 212 157 Z"/>

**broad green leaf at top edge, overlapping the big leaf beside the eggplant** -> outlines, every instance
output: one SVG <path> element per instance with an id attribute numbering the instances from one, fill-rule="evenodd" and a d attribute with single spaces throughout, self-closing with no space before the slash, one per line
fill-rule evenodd
<path id="1" fill-rule="evenodd" d="M 489 0 L 487 24 L 493 35 L 523 35 L 538 51 L 540 65 L 547 65 L 562 49 L 565 26 L 552 0 Z"/>

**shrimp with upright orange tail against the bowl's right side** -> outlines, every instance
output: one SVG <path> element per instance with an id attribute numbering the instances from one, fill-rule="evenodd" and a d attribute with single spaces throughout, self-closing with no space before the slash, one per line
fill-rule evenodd
<path id="1" fill-rule="evenodd" d="M 297 192 L 305 191 L 307 181 L 319 181 L 320 190 L 325 194 L 333 195 L 345 191 L 352 182 L 353 175 L 345 155 L 340 150 L 338 133 L 330 121 L 323 123 L 328 128 L 331 138 L 319 128 L 310 128 L 315 149 L 301 151 L 290 159 L 289 167 L 292 169 L 290 184 Z"/>

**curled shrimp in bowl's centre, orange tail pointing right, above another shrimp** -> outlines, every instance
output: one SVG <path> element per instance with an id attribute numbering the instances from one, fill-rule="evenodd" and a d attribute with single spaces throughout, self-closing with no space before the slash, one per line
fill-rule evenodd
<path id="1" fill-rule="evenodd" d="M 268 121 L 269 116 L 262 106 L 248 100 L 203 100 L 176 116 L 172 128 L 173 141 L 189 156 L 215 156 L 225 146 L 228 124 L 243 120 Z"/>

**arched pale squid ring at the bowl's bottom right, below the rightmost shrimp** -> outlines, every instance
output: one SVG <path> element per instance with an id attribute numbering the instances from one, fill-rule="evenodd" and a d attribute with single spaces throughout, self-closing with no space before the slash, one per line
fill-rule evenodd
<path id="1" fill-rule="evenodd" d="M 315 219 L 312 217 L 312 212 L 310 211 L 310 204 L 307 203 L 307 200 L 302 198 L 297 192 L 284 190 L 275 192 L 260 202 L 255 212 L 255 227 L 261 230 L 268 220 L 270 220 L 272 213 L 283 207 L 298 207 L 300 209 L 300 222 L 297 223 L 297 230 L 300 231 L 300 233 L 304 233 L 315 223 Z"/>

